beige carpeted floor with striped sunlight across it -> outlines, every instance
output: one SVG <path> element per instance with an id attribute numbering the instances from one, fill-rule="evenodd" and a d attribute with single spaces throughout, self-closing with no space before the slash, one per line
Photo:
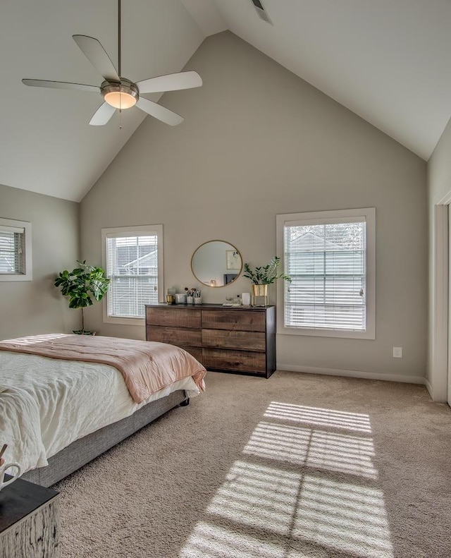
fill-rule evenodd
<path id="1" fill-rule="evenodd" d="M 451 557 L 451 409 L 425 387 L 206 386 L 55 485 L 62 558 Z"/>

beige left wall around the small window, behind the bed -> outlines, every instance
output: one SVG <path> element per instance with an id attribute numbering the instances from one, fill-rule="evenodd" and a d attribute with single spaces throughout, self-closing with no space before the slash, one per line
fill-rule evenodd
<path id="1" fill-rule="evenodd" d="M 0 339 L 78 327 L 77 310 L 54 287 L 79 257 L 79 204 L 0 185 L 0 217 L 32 224 L 32 281 L 0 281 Z"/>

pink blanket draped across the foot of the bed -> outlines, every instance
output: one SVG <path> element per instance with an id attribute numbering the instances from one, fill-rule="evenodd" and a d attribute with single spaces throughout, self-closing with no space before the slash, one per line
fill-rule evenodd
<path id="1" fill-rule="evenodd" d="M 141 403 L 163 387 L 188 376 L 192 377 L 202 392 L 205 389 L 204 366 L 182 348 L 166 343 L 117 337 L 49 334 L 0 341 L 0 351 L 109 364 L 122 373 L 136 403 Z"/>

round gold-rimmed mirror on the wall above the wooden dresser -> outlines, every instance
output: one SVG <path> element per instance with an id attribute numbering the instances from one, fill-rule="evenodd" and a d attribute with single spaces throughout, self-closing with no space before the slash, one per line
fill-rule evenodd
<path id="1" fill-rule="evenodd" d="M 204 285 L 226 286 L 240 276 L 241 254 L 228 242 L 204 242 L 192 255 L 191 269 Z"/>

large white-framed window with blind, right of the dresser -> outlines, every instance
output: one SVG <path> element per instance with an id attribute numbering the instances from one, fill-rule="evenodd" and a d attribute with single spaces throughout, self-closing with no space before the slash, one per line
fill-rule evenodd
<path id="1" fill-rule="evenodd" d="M 375 339 L 375 222 L 373 207 L 277 216 L 292 277 L 278 285 L 279 333 Z"/>

